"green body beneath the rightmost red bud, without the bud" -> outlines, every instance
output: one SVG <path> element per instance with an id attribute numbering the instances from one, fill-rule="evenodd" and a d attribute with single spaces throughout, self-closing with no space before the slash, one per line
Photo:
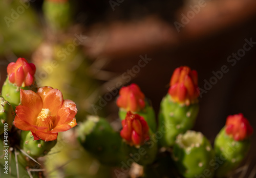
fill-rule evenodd
<path id="1" fill-rule="evenodd" d="M 216 176 L 223 177 L 239 166 L 247 155 L 250 147 L 250 140 L 236 141 L 225 132 L 226 126 L 217 135 L 214 143 L 216 157 Z"/>

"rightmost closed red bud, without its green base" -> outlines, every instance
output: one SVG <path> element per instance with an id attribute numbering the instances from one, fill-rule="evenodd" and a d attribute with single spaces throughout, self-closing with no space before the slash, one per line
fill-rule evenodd
<path id="1" fill-rule="evenodd" d="M 240 141 L 248 138 L 253 133 L 252 126 L 242 113 L 230 115 L 226 120 L 226 134 Z"/>

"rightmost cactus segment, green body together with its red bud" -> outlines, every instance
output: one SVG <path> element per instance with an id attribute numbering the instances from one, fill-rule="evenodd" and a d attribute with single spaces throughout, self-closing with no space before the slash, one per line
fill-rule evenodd
<path id="1" fill-rule="evenodd" d="M 219 158 L 216 176 L 223 177 L 239 166 L 250 147 L 252 128 L 243 114 L 230 115 L 215 139 L 214 148 Z"/>

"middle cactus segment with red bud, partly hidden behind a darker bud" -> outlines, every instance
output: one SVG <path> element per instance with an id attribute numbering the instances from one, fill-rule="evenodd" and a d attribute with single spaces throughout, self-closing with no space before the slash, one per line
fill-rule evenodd
<path id="1" fill-rule="evenodd" d="M 145 99 L 144 94 L 136 84 L 122 87 L 117 98 L 117 106 L 119 107 L 119 117 L 124 120 L 126 113 L 131 111 L 142 116 L 152 132 L 156 132 L 155 111 L 149 102 Z"/>

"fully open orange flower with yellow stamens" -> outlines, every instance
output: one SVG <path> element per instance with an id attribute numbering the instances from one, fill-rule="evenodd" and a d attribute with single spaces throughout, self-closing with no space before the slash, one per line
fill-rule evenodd
<path id="1" fill-rule="evenodd" d="M 68 131 L 77 124 L 75 103 L 63 100 L 58 89 L 40 87 L 36 93 L 20 89 L 20 102 L 13 124 L 20 130 L 31 131 L 34 140 L 56 140 L 58 132 Z"/>

